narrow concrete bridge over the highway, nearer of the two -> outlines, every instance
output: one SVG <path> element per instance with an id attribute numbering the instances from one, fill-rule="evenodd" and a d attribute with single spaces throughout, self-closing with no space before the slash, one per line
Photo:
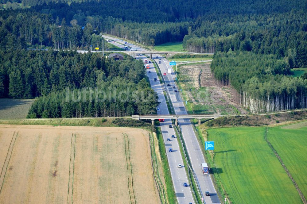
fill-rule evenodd
<path id="1" fill-rule="evenodd" d="M 131 118 L 135 120 L 152 120 L 152 124 L 154 120 L 157 119 L 174 119 L 175 125 L 178 125 L 178 119 L 198 119 L 198 125 L 200 125 L 200 119 L 208 118 L 215 119 L 221 117 L 220 114 L 207 114 L 207 115 L 132 115 Z"/>

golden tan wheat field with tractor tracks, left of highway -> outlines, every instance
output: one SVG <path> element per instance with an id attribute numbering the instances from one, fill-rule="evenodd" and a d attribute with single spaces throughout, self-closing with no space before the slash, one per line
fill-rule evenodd
<path id="1" fill-rule="evenodd" d="M 160 203 L 148 132 L 0 125 L 0 203 Z"/>

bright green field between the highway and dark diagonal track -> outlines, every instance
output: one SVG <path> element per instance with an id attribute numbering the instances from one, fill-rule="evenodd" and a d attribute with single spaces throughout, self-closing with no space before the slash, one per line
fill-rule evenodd
<path id="1" fill-rule="evenodd" d="M 265 131 L 264 127 L 208 130 L 208 140 L 215 141 L 214 162 L 223 188 L 232 203 L 302 203 L 264 140 Z"/>

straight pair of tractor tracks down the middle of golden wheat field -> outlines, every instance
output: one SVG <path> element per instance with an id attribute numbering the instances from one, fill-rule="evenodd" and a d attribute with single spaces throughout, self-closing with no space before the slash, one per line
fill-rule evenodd
<path id="1" fill-rule="evenodd" d="M 76 158 L 76 133 L 72 134 L 71 140 L 72 141 L 71 141 L 71 146 L 70 146 L 68 193 L 67 193 L 67 203 L 68 204 L 73 203 L 72 195 L 73 195 L 73 191 L 74 191 L 74 170 L 75 170 L 75 158 Z M 69 198 L 71 198 L 71 199 L 69 199 Z"/>

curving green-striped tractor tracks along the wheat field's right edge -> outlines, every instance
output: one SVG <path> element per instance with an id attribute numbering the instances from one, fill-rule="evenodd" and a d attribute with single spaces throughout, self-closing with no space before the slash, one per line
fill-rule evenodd
<path id="1" fill-rule="evenodd" d="M 153 171 L 153 179 L 156 184 L 156 188 L 160 197 L 160 201 L 162 204 L 166 204 L 166 197 L 165 197 L 165 189 L 161 182 L 161 178 L 159 176 L 158 164 L 157 164 L 157 155 L 155 153 L 154 148 L 154 140 L 153 134 L 149 133 L 149 144 L 150 144 L 150 151 L 151 151 L 151 164 L 152 164 L 152 171 Z"/>

